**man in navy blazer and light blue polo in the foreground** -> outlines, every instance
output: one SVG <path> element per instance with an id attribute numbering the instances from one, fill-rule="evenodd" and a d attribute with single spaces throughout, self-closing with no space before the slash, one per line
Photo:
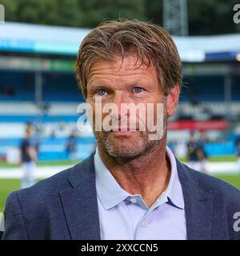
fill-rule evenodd
<path id="1" fill-rule="evenodd" d="M 182 79 L 170 35 L 146 22 L 105 22 L 82 41 L 76 74 L 98 147 L 77 166 L 11 193 L 3 239 L 239 239 L 240 191 L 191 170 L 166 147 Z M 127 125 L 96 129 L 99 98 L 102 110 L 118 106 L 111 124 L 125 118 Z M 155 121 L 162 104 L 162 136 L 150 139 L 158 133 L 140 129 L 140 113 L 130 129 L 129 112 L 118 112 L 123 103 L 151 103 Z"/>

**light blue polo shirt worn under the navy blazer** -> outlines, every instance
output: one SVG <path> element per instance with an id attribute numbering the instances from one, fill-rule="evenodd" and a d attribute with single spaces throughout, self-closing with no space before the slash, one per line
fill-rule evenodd
<path id="1" fill-rule="evenodd" d="M 171 165 L 170 181 L 149 208 L 140 194 L 129 194 L 119 186 L 97 148 L 94 166 L 102 240 L 186 239 L 184 200 L 176 159 L 168 147 L 166 154 Z"/>

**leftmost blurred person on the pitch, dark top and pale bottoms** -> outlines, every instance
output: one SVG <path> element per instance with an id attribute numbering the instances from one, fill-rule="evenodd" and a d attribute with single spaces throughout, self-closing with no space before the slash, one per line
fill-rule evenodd
<path id="1" fill-rule="evenodd" d="M 37 160 L 36 148 L 32 143 L 33 129 L 30 126 L 26 126 L 25 138 L 20 145 L 20 159 L 22 166 L 22 188 L 33 186 L 35 183 L 34 170 L 35 162 Z"/>

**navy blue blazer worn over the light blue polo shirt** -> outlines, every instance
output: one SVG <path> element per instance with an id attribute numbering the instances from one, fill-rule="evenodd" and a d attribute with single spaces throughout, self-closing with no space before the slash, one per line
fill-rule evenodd
<path id="1" fill-rule="evenodd" d="M 178 162 L 190 240 L 236 239 L 234 213 L 240 190 Z M 2 239 L 78 239 L 100 237 L 94 154 L 85 161 L 12 192 L 6 200 Z M 236 226 L 236 225 L 235 225 Z"/>

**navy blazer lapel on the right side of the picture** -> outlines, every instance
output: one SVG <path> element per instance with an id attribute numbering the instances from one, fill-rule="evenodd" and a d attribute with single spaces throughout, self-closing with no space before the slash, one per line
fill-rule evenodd
<path id="1" fill-rule="evenodd" d="M 210 240 L 212 236 L 214 194 L 202 190 L 198 175 L 178 162 L 178 176 L 185 202 L 188 240 Z M 192 174 L 191 174 L 192 173 Z"/>

